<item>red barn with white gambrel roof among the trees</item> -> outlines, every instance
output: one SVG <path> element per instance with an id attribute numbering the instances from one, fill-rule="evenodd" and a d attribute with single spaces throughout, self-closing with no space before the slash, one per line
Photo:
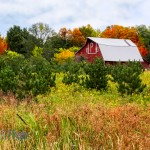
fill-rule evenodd
<path id="1" fill-rule="evenodd" d="M 111 39 L 88 37 L 86 44 L 75 54 L 77 61 L 87 60 L 93 62 L 94 59 L 103 58 L 105 63 L 116 63 L 127 61 L 140 61 L 144 68 L 150 67 L 142 56 L 137 46 L 128 39 Z"/>

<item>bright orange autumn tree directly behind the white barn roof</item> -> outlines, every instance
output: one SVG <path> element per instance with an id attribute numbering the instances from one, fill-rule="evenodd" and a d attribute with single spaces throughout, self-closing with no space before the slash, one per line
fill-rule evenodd
<path id="1" fill-rule="evenodd" d="M 148 53 L 135 27 L 123 27 L 119 25 L 112 25 L 112 26 L 107 27 L 101 33 L 101 37 L 130 39 L 132 42 L 134 42 L 137 45 L 142 56 L 145 56 Z"/>

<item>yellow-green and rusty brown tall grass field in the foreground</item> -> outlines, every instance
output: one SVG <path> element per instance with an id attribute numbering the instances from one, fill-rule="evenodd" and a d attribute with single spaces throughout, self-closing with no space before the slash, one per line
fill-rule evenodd
<path id="1" fill-rule="evenodd" d="M 147 88 L 132 97 L 113 83 L 101 93 L 64 85 L 62 74 L 33 100 L 0 93 L 0 150 L 149 150 L 150 72 L 141 78 Z"/>

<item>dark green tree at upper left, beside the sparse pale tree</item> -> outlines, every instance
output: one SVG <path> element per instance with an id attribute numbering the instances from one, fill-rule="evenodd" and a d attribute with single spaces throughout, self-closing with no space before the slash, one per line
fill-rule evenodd
<path id="1" fill-rule="evenodd" d="M 29 57 L 33 48 L 37 45 L 42 46 L 40 39 L 36 39 L 27 29 L 21 29 L 20 26 L 14 25 L 7 32 L 7 42 L 10 50 Z"/>

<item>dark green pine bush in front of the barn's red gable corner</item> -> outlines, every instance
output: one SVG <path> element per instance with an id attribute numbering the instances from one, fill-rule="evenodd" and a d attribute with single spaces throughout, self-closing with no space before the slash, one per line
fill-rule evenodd
<path id="1" fill-rule="evenodd" d="M 107 89 L 107 67 L 102 59 L 95 59 L 93 64 L 88 64 L 85 67 L 86 79 L 85 85 L 87 88 L 106 90 Z"/>

